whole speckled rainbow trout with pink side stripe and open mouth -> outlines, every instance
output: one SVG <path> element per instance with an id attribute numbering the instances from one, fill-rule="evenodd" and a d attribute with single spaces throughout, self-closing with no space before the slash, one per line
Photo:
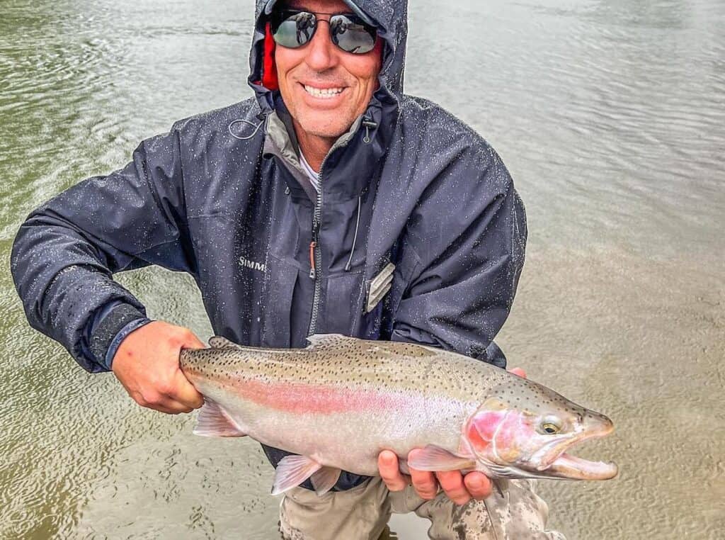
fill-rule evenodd
<path id="1" fill-rule="evenodd" d="M 305 348 L 258 348 L 212 337 L 181 351 L 204 396 L 194 433 L 249 435 L 290 452 L 272 494 L 310 479 L 318 495 L 342 470 L 479 470 L 489 478 L 607 480 L 618 467 L 567 453 L 612 433 L 604 414 L 484 361 L 415 343 L 312 335 Z M 407 459 L 413 449 L 421 449 Z"/>

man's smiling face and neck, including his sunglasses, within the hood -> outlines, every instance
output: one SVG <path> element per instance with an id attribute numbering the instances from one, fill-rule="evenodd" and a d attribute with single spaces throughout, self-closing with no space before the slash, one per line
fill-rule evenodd
<path id="1" fill-rule="evenodd" d="M 365 113 L 378 89 L 383 41 L 341 0 L 291 1 L 274 12 L 270 28 L 278 44 L 279 91 L 302 155 L 319 171 L 336 139 Z"/>

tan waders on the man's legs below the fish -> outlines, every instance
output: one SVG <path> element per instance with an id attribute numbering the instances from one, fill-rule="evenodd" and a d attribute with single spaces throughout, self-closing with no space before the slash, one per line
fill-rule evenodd
<path id="1" fill-rule="evenodd" d="M 392 512 L 430 520 L 428 536 L 434 540 L 566 540 L 546 530 L 549 509 L 534 493 L 532 480 L 504 481 L 501 491 L 462 507 L 442 492 L 426 501 L 412 486 L 388 491 L 379 477 L 321 497 L 294 488 L 282 499 L 280 528 L 286 540 L 378 540 L 388 537 Z"/>

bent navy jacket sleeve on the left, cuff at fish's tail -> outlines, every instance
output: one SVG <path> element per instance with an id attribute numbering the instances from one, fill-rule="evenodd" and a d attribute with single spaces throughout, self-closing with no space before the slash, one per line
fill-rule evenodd
<path id="1" fill-rule="evenodd" d="M 112 274 L 149 264 L 193 271 L 180 154 L 174 129 L 147 139 L 125 168 L 62 192 L 17 233 L 11 270 L 30 326 L 90 372 L 108 369 L 114 337 L 146 319 Z"/>

